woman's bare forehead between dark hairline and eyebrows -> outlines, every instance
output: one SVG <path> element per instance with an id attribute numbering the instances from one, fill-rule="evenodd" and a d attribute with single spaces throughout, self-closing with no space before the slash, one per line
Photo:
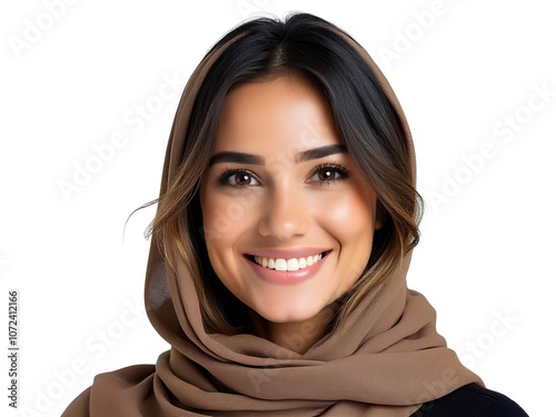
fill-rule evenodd
<path id="1" fill-rule="evenodd" d="M 300 77 L 235 88 L 226 98 L 215 152 L 258 155 L 341 143 L 321 92 Z"/>

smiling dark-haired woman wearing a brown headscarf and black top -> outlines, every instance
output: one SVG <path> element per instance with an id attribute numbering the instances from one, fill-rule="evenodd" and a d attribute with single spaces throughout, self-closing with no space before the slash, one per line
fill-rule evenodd
<path id="1" fill-rule="evenodd" d="M 146 304 L 171 349 L 63 416 L 526 416 L 407 289 L 419 218 L 409 129 L 365 50 L 310 14 L 240 26 L 168 145 Z"/>

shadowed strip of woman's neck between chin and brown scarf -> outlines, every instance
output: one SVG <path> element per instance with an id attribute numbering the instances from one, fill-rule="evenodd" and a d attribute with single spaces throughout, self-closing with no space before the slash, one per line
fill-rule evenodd
<path id="1" fill-rule="evenodd" d="M 325 336 L 332 316 L 332 307 L 326 307 L 304 321 L 272 322 L 251 311 L 255 329 L 260 337 L 300 355 Z"/>

